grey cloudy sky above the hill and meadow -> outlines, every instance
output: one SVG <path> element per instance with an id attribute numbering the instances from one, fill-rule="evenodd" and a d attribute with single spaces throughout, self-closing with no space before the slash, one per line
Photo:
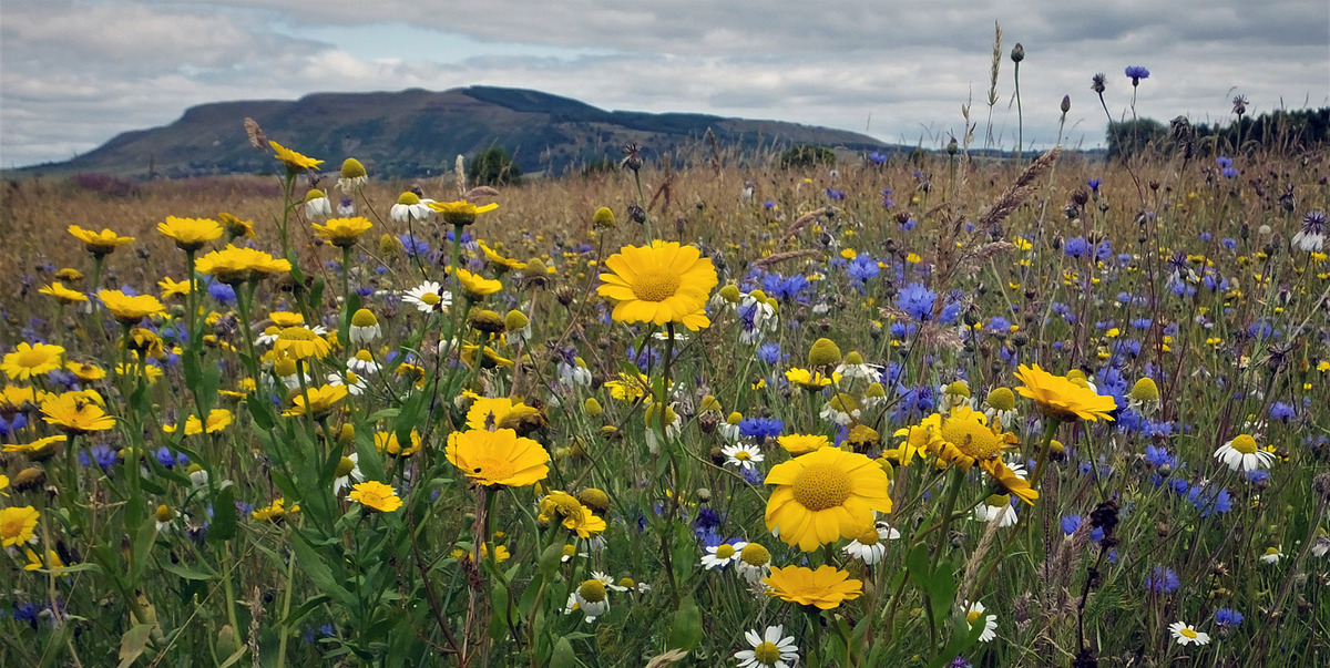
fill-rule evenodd
<path id="1" fill-rule="evenodd" d="M 1137 112 L 1228 122 L 1330 105 L 1326 0 L 4 0 L 0 166 L 61 161 L 197 104 L 313 92 L 535 88 L 605 109 L 704 112 L 940 146 L 972 101 L 984 142 L 994 21 L 1003 63 L 992 141 L 1012 148 L 1019 41 L 1025 142 L 1103 142 L 1089 89 Z"/>

